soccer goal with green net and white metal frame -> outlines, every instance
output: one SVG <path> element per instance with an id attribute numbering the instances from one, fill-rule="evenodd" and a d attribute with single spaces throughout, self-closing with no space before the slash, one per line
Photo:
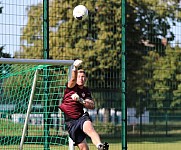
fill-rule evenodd
<path id="1" fill-rule="evenodd" d="M 58 105 L 72 63 L 0 59 L 0 149 L 67 149 Z"/>

